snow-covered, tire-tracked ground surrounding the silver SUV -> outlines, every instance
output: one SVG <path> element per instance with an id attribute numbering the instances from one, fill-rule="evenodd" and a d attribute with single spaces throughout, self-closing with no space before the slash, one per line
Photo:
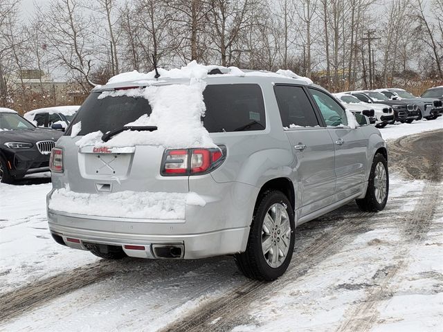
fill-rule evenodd
<path id="1" fill-rule="evenodd" d="M 393 140 L 442 128 L 440 117 L 381 133 Z M 201 331 L 442 331 L 442 185 L 391 174 L 383 212 L 361 214 L 348 205 L 302 225 L 287 275 L 260 286 L 246 302 L 225 299 L 230 317 L 210 313 Z M 50 188 L 0 184 L 0 308 L 8 308 L 5 295 L 13 299 L 26 289 L 37 294 L 33 308 L 0 322 L 0 331 L 158 331 L 255 285 L 237 272 L 231 257 L 127 259 L 105 266 L 89 252 L 60 246 L 46 224 Z M 433 214 L 420 208 L 426 204 L 434 206 Z M 329 234 L 335 237 L 322 238 Z M 63 283 L 48 300 L 33 289 L 62 273 L 66 284 L 87 278 L 87 266 L 94 264 L 107 268 L 107 275 L 66 288 L 66 294 Z"/>

